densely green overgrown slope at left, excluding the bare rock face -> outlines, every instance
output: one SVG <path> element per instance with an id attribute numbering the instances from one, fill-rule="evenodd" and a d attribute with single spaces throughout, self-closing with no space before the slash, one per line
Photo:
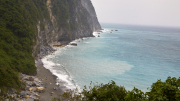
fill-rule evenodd
<path id="1" fill-rule="evenodd" d="M 46 0 L 0 0 L 1 90 L 20 88 L 18 72 L 36 73 L 32 47 L 44 18 L 49 18 Z"/>

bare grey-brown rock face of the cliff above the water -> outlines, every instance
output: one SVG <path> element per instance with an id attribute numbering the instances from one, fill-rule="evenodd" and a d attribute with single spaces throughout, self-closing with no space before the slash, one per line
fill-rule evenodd
<path id="1" fill-rule="evenodd" d="M 47 55 L 53 45 L 64 45 L 82 37 L 92 37 L 101 29 L 90 0 L 47 0 L 49 19 L 37 24 L 34 57 Z M 41 25 L 44 27 L 42 28 Z"/>

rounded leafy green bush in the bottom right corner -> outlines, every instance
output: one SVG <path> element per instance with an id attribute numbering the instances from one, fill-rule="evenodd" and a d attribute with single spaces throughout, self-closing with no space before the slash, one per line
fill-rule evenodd
<path id="1" fill-rule="evenodd" d="M 168 77 L 166 82 L 158 80 L 147 93 L 152 101 L 180 101 L 180 78 Z"/>

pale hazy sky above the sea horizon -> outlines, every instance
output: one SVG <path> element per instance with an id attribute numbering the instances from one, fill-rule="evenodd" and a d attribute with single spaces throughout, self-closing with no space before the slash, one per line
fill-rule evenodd
<path id="1" fill-rule="evenodd" d="M 180 27 L 180 0 L 91 0 L 99 22 Z"/>

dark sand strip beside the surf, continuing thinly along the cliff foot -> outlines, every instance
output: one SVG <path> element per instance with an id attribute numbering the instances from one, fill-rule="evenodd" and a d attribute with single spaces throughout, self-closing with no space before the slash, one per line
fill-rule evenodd
<path id="1" fill-rule="evenodd" d="M 95 33 L 98 33 L 98 31 Z M 93 35 L 93 36 L 97 37 L 95 35 Z M 84 37 L 84 38 L 91 38 L 91 37 Z M 69 42 L 69 44 L 74 41 L 76 41 L 76 40 Z M 69 44 L 66 44 L 64 46 L 67 46 Z M 55 50 L 55 51 L 57 51 L 57 50 Z M 52 51 L 50 54 L 52 54 L 53 52 L 54 51 Z M 48 55 L 50 55 L 50 54 L 48 54 Z M 46 56 L 48 56 L 48 55 L 46 55 Z M 46 57 L 46 56 L 44 56 L 44 57 Z M 54 75 L 49 69 L 44 67 L 44 64 L 42 62 L 43 58 L 35 60 L 35 65 L 37 67 L 36 76 L 45 84 L 45 92 L 40 93 L 39 95 L 40 95 L 40 99 L 42 101 L 51 101 L 52 98 L 62 95 L 65 91 L 63 91 L 63 88 L 59 86 L 59 85 L 61 85 L 61 83 L 58 82 L 59 84 L 56 85 L 57 79 L 59 79 L 59 78 L 56 75 Z M 56 89 L 54 89 L 54 88 L 56 88 Z M 51 92 L 54 92 L 54 94 L 51 94 Z"/>

